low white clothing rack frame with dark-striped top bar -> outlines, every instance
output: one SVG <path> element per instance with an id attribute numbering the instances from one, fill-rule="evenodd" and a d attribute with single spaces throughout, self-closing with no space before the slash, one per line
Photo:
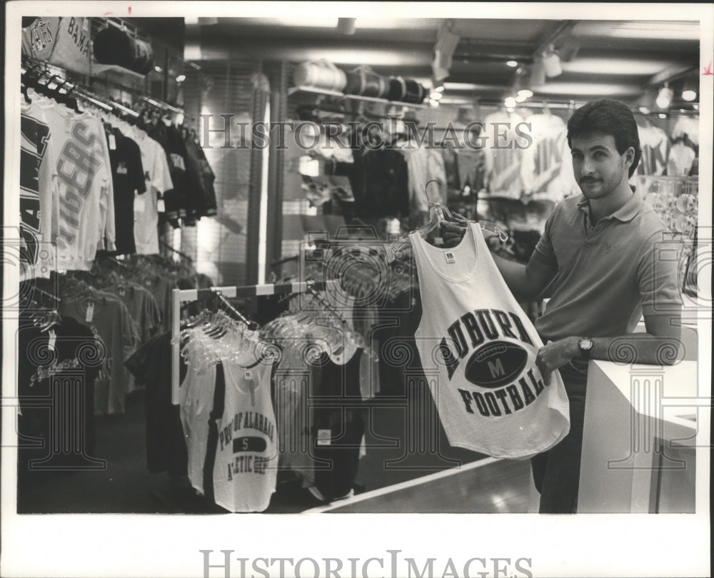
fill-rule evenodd
<path id="1" fill-rule="evenodd" d="M 284 295 L 306 293 L 335 288 L 336 281 L 301 281 L 296 283 L 273 283 L 268 285 L 243 285 L 242 287 L 211 287 L 210 289 L 174 289 L 171 308 L 171 403 L 178 405 L 179 363 L 181 356 L 181 303 L 201 301 L 216 297 L 257 297 L 261 295 Z"/>

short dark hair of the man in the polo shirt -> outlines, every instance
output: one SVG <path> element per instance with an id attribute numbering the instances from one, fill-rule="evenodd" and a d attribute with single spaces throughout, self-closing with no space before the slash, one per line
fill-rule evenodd
<path id="1" fill-rule="evenodd" d="M 573 137 L 590 136 L 595 133 L 611 135 L 615 138 L 618 153 L 623 154 L 628 148 L 635 149 L 635 158 L 630 166 L 630 176 L 640 163 L 640 136 L 637 132 L 635 116 L 625 103 L 602 98 L 580 106 L 568 120 L 568 146 Z"/>

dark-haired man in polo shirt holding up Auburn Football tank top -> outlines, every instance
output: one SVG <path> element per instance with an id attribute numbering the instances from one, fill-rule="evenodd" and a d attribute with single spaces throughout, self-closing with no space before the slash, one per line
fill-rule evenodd
<path id="1" fill-rule="evenodd" d="M 548 382 L 559 370 L 570 400 L 570 433 L 531 460 L 540 512 L 575 512 L 588 360 L 670 364 L 679 347 L 681 300 L 671 241 L 660 218 L 630 188 L 640 161 L 629 108 L 590 101 L 568 121 L 568 146 L 582 196 L 558 203 L 528 265 L 493 255 L 519 300 L 550 298 L 535 320 L 536 362 Z M 446 225 L 453 245 L 463 228 Z M 665 243 L 665 245 L 663 245 Z M 643 315 L 646 333 L 633 333 Z"/>

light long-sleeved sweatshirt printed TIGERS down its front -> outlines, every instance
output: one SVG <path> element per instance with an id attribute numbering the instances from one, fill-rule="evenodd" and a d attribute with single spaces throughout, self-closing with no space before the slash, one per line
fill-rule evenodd
<path id="1" fill-rule="evenodd" d="M 43 108 L 56 156 L 57 268 L 90 270 L 97 249 L 114 250 L 114 191 L 101 121 Z"/>

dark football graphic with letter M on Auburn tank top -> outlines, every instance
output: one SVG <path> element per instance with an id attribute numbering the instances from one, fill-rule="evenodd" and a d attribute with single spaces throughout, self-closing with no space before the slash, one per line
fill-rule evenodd
<path id="1" fill-rule="evenodd" d="M 528 352 L 509 341 L 491 341 L 466 362 L 465 377 L 480 387 L 501 387 L 515 381 L 528 363 Z"/>

